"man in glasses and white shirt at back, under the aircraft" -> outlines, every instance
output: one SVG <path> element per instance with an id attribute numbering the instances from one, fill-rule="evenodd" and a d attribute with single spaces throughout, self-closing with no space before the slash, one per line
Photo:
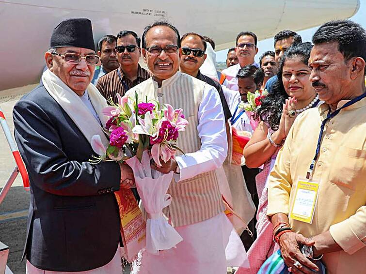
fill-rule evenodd
<path id="1" fill-rule="evenodd" d="M 237 74 L 239 70 L 246 65 L 259 65 L 254 61 L 255 54 L 258 53 L 257 48 L 257 36 L 252 31 L 242 31 L 238 34 L 236 40 L 235 53 L 238 57 L 239 63 L 228 67 L 222 71 L 226 76 L 226 80 L 223 85 L 228 89 L 237 91 L 238 90 L 238 79 Z"/>

